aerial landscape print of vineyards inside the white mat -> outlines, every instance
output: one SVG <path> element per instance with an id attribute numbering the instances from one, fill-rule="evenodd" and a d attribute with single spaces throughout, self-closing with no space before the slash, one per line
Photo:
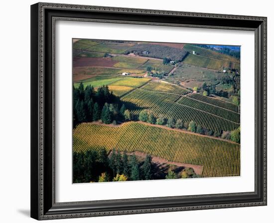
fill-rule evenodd
<path id="1" fill-rule="evenodd" d="M 73 183 L 241 176 L 241 46 L 73 38 L 71 50 Z"/>

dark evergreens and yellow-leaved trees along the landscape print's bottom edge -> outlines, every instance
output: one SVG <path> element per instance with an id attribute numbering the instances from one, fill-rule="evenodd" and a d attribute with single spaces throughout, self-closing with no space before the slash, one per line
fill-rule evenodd
<path id="1" fill-rule="evenodd" d="M 110 182 L 132 180 L 155 180 L 200 177 L 192 168 L 175 166 L 159 167 L 151 155 L 144 159 L 112 149 L 108 155 L 105 148 L 85 152 L 73 152 L 73 182 Z"/>

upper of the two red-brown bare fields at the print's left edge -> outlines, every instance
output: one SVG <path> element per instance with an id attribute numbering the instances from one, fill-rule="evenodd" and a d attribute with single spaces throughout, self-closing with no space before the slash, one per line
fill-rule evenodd
<path id="1" fill-rule="evenodd" d="M 105 68 L 111 68 L 115 64 L 117 64 L 117 61 L 111 60 L 110 58 L 86 58 L 81 57 L 76 61 L 73 61 L 73 67 L 74 68 L 80 68 L 80 67 L 105 67 Z"/>

